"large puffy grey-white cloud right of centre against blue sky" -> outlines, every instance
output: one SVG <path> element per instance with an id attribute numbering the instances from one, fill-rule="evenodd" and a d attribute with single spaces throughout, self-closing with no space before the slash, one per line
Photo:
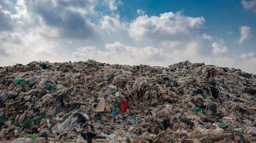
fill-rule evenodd
<path id="1" fill-rule="evenodd" d="M 159 16 L 139 16 L 130 23 L 128 30 L 135 40 L 148 39 L 189 39 L 195 34 L 195 29 L 204 27 L 204 17 L 185 17 L 178 13 L 161 13 Z"/>

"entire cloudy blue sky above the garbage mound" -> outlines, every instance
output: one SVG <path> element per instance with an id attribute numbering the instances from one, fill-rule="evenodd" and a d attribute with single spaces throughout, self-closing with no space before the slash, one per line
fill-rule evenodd
<path id="1" fill-rule="evenodd" d="M 0 0 L 0 66 L 190 61 L 256 74 L 256 0 Z"/>

